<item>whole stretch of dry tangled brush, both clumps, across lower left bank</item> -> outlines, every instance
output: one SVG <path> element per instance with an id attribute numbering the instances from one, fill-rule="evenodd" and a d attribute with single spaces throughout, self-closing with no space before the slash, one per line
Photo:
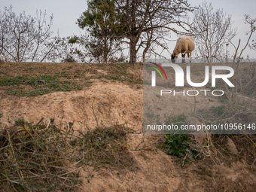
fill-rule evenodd
<path id="1" fill-rule="evenodd" d="M 79 170 L 88 166 L 90 181 L 101 168 L 131 169 L 125 125 L 100 126 L 75 133 L 70 122 L 56 125 L 44 117 L 36 123 L 23 119 L 0 133 L 0 185 L 14 191 L 71 190 L 81 184 Z M 111 166 L 111 167 L 109 167 Z"/>

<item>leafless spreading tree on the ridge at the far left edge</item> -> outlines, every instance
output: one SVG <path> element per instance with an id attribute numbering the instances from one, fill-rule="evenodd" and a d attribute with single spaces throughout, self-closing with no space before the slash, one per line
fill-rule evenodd
<path id="1" fill-rule="evenodd" d="M 0 56 L 2 59 L 21 62 L 43 61 L 56 41 L 50 38 L 53 32 L 53 16 L 47 23 L 46 12 L 36 11 L 36 17 L 15 14 L 12 7 L 0 11 Z"/>

